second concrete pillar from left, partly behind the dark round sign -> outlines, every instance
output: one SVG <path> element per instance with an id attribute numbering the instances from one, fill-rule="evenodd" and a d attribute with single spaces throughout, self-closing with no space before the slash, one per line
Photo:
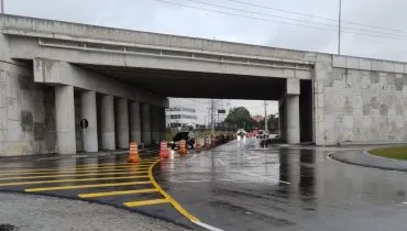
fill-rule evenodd
<path id="1" fill-rule="evenodd" d="M 95 91 L 82 91 L 80 95 L 81 117 L 80 119 L 87 119 L 89 124 L 85 131 L 87 152 L 98 152 L 98 121 L 96 112 L 96 92 Z"/>

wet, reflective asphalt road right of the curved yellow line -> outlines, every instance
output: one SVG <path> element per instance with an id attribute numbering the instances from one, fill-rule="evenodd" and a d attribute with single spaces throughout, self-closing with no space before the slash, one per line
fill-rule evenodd
<path id="1" fill-rule="evenodd" d="M 223 230 L 407 230 L 407 175 L 339 163 L 318 148 L 232 141 L 163 161 L 158 184 Z"/>

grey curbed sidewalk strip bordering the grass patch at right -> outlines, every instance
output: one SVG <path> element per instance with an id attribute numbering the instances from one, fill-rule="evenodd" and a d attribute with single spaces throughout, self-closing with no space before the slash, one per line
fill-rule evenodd
<path id="1" fill-rule="evenodd" d="M 369 154 L 366 151 L 340 151 L 330 155 L 336 161 L 387 170 L 407 172 L 407 161 L 397 161 Z"/>

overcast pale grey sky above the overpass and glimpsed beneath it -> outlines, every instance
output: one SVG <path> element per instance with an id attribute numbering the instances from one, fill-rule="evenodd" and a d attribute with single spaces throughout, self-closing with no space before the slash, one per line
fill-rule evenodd
<path id="1" fill-rule="evenodd" d="M 10 14 L 140 31 L 324 53 L 337 53 L 338 46 L 339 0 L 4 0 L 4 4 Z M 341 53 L 407 62 L 406 9 L 405 0 L 342 0 Z M 231 105 L 245 106 L 253 114 L 264 111 L 261 101 Z M 275 102 L 268 103 L 268 111 L 277 111 Z"/>

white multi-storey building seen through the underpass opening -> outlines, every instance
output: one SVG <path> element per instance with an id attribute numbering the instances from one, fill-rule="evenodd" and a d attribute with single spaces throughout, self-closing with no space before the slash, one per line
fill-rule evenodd
<path id="1" fill-rule="evenodd" d="M 167 128 L 196 128 L 198 123 L 197 111 L 194 108 L 170 107 L 165 110 Z"/>

